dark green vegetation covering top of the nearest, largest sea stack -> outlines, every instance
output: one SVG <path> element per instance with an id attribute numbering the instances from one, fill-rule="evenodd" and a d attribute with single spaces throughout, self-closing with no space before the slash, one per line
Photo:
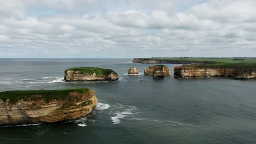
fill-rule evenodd
<path id="1" fill-rule="evenodd" d="M 38 91 L 7 91 L 0 92 L 0 99 L 10 103 L 15 103 L 20 99 L 24 100 L 45 100 L 49 102 L 51 100 L 79 100 L 79 97 L 69 95 L 70 92 L 77 92 L 79 94 L 87 93 L 88 88 L 76 88 L 76 89 L 61 89 L 61 90 L 38 90 Z"/>

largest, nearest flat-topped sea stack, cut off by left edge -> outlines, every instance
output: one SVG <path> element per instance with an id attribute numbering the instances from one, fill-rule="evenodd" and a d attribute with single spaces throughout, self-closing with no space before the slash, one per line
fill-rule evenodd
<path id="1" fill-rule="evenodd" d="M 70 121 L 96 106 L 95 92 L 87 88 L 0 92 L 0 125 Z"/>

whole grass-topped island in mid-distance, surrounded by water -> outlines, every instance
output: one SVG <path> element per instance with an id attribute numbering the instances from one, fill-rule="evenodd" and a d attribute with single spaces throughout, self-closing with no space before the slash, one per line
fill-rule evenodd
<path id="1" fill-rule="evenodd" d="M 112 69 L 80 67 L 65 70 L 64 80 L 71 81 L 116 81 L 119 75 Z"/>

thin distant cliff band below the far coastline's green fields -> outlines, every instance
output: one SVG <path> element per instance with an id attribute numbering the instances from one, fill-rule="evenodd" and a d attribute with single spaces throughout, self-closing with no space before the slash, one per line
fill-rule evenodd
<path id="1" fill-rule="evenodd" d="M 173 63 L 173 64 L 193 64 L 193 65 L 202 65 L 208 64 L 209 62 L 199 62 L 199 61 L 164 61 L 158 59 L 148 59 L 148 58 L 133 58 L 133 63 Z"/>

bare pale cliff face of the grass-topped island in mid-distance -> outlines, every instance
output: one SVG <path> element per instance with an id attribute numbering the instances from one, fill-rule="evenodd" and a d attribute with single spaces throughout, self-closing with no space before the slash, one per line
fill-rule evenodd
<path id="1" fill-rule="evenodd" d="M 112 71 L 110 74 L 84 73 L 84 71 L 65 70 L 66 81 L 115 81 L 119 75 Z"/>

